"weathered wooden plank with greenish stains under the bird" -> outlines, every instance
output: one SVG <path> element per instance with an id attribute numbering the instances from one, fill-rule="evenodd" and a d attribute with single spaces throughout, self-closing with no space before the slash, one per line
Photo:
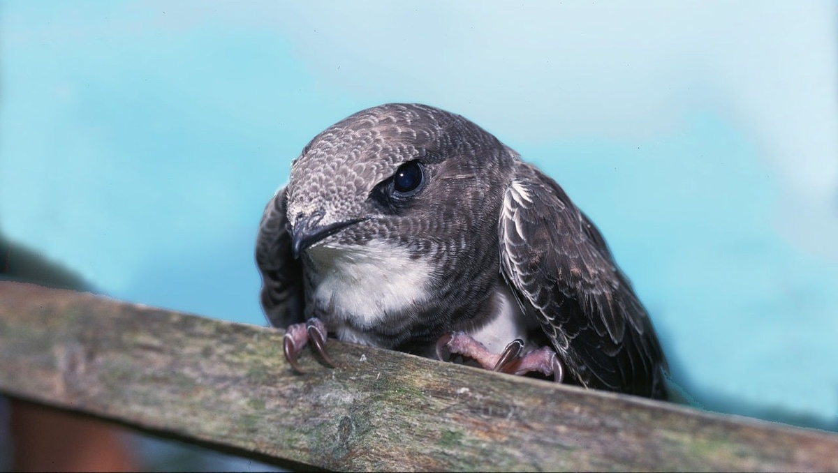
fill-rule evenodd
<path id="1" fill-rule="evenodd" d="M 0 391 L 336 470 L 838 470 L 838 435 L 0 282 Z"/>

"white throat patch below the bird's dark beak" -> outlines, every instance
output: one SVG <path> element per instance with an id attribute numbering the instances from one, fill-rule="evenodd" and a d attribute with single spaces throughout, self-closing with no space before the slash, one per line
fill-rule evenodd
<path id="1" fill-rule="evenodd" d="M 427 300 L 432 266 L 411 259 L 406 249 L 373 240 L 357 246 L 316 245 L 308 254 L 315 271 L 314 299 L 355 326 L 373 326 L 388 312 Z"/>

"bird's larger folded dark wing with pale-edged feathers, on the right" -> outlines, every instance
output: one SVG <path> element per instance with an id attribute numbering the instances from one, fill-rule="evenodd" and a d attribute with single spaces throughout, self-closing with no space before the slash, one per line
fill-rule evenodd
<path id="1" fill-rule="evenodd" d="M 526 163 L 504 195 L 499 240 L 505 279 L 578 383 L 665 397 L 660 343 L 602 234 Z"/>

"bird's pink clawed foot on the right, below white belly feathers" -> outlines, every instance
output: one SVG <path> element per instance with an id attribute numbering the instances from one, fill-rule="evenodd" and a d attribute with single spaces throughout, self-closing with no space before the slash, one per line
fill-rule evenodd
<path id="1" fill-rule="evenodd" d="M 447 356 L 443 356 L 445 351 L 448 352 Z M 552 376 L 556 383 L 564 379 L 564 368 L 551 347 L 541 347 L 525 355 L 523 352 L 524 341 L 520 338 L 510 342 L 500 353 L 489 352 L 483 343 L 466 332 L 447 333 L 437 340 L 437 357 L 443 361 L 447 361 L 451 355 L 461 355 L 492 371 L 516 375 L 537 372 Z"/>

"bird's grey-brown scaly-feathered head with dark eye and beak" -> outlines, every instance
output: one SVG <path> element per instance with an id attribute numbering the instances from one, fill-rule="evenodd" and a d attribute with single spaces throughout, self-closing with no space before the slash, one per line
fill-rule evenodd
<path id="1" fill-rule="evenodd" d="M 462 116 L 427 105 L 360 111 L 292 162 L 287 218 L 295 256 L 386 240 L 414 254 L 462 244 L 497 218 L 495 187 L 515 153 Z"/>

